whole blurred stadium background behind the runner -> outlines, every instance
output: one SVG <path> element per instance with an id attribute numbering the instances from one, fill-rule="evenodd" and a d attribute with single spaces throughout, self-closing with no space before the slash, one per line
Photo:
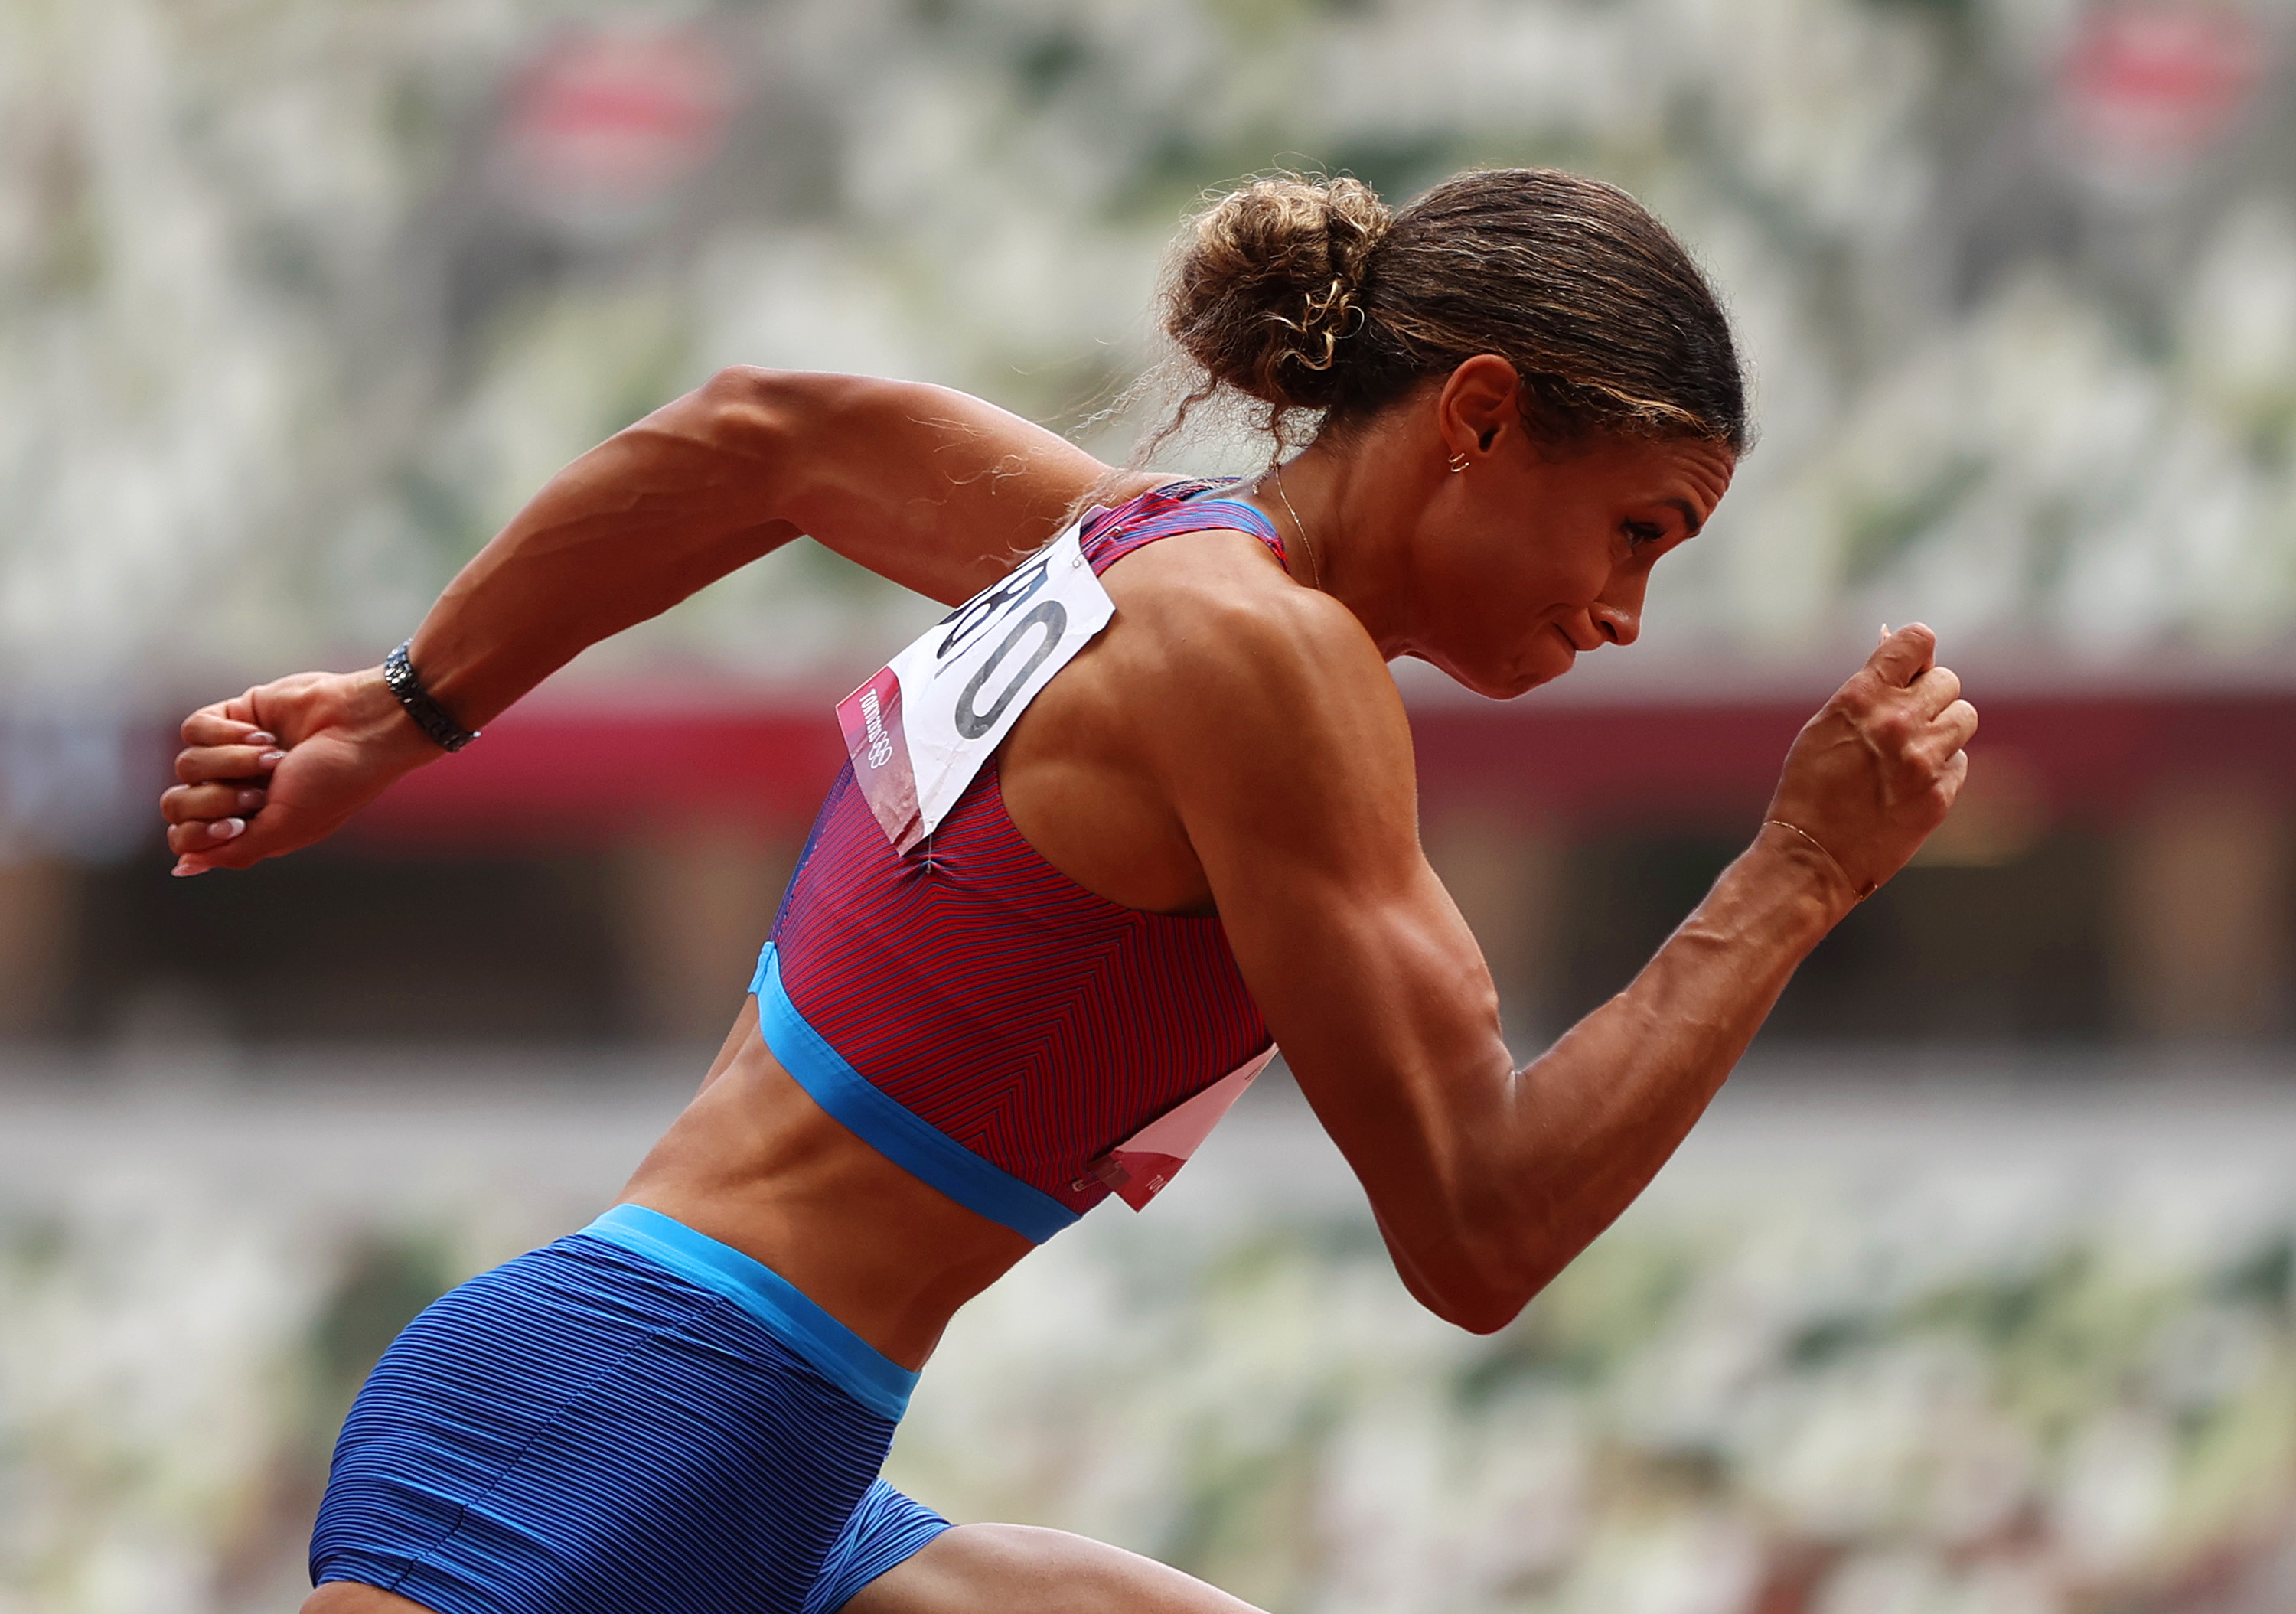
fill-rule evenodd
<path id="1" fill-rule="evenodd" d="M 934 608 L 790 546 L 170 882 L 188 707 L 374 664 L 719 365 L 1120 457 L 1205 188 L 1474 163 L 1658 209 L 1763 432 L 1630 654 L 1398 668 L 1518 1047 L 1883 622 L 1986 714 L 1963 804 L 1518 1327 L 1412 1309 L 1274 1079 L 960 1318 L 895 1476 L 1279 1614 L 2296 1609 L 2291 46 L 2285 0 L 0 0 L 0 1614 L 292 1607 L 367 1364 L 611 1203 L 829 703 Z"/>

